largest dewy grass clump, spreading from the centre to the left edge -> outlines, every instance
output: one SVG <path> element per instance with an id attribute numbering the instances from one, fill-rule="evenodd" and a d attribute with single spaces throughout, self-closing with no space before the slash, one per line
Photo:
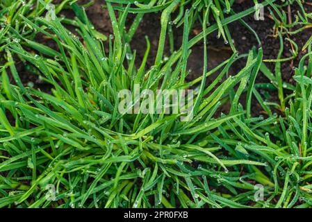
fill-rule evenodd
<path id="1" fill-rule="evenodd" d="M 51 37 L 60 50 L 31 42 L 27 46 L 38 51 L 34 55 L 18 41 L 6 48 L 8 63 L 2 69 L 0 119 L 1 150 L 6 151 L 8 157 L 3 156 L 5 161 L 0 164 L 0 171 L 9 176 L 6 180 L 3 178 L 6 187 L 2 189 L 1 206 L 243 206 L 231 200 L 231 195 L 224 198 L 219 191 L 208 187 L 222 186 L 218 182 L 222 175 L 238 177 L 239 166 L 265 164 L 235 155 L 226 159 L 220 153 L 220 146 L 206 141 L 218 134 L 217 128 L 226 121 L 243 114 L 233 112 L 213 118 L 217 108 L 229 98 L 229 89 L 247 76 L 256 58 L 250 54 L 246 67 L 220 86 L 204 88 L 202 85 L 195 97 L 197 105 L 191 122 L 179 121 L 176 114 L 120 114 L 117 112 L 120 89 L 133 90 L 136 81 L 146 89 L 183 89 L 217 69 L 223 69 L 220 75 L 224 75 L 229 69 L 226 63 L 231 64 L 236 56 L 193 83 L 184 83 L 183 79 L 172 81 L 183 65 L 182 49 L 191 46 L 188 41 L 183 42 L 181 51 L 167 62 L 162 60 L 158 66 L 146 69 L 145 58 L 140 69 L 136 69 L 133 66 L 136 56 L 133 56 L 126 68 L 126 44 L 122 41 L 122 28 L 118 26 L 122 20 L 117 22 L 112 8 L 108 9 L 114 26 L 108 55 L 101 40 L 92 35 L 92 27 L 80 8 L 76 8 L 80 17 L 76 20 L 80 27 L 76 31 L 84 44 L 58 19 L 38 18 L 37 25 L 22 17 L 28 26 Z M 49 31 L 40 26 L 49 27 Z M 188 30 L 187 23 L 185 28 Z M 22 35 L 15 35 L 27 43 Z M 42 80 L 51 84 L 52 94 L 24 87 L 13 54 L 40 70 Z M 16 86 L 8 82 L 6 67 L 10 67 Z M 9 123 L 6 112 L 14 117 L 15 126 Z M 196 169 L 192 162 L 202 167 Z M 204 180 L 199 179 L 201 176 Z M 207 179 L 211 181 L 209 185 Z M 20 186 L 21 180 L 26 185 Z M 46 199 L 44 187 L 48 184 L 56 186 L 60 205 Z M 17 191 L 8 196 L 6 190 L 14 187 Z M 149 201 L 150 198 L 154 200 Z"/>

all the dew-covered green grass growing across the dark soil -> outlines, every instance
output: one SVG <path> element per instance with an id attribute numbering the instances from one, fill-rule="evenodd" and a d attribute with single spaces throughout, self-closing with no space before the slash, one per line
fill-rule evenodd
<path id="1" fill-rule="evenodd" d="M 76 3 L 59 6 L 72 8 L 75 19 L 49 21 L 40 13 L 33 16 L 20 1 L 0 2 L 0 15 L 12 12 L 0 35 L 0 207 L 311 206 L 311 44 L 295 69 L 295 85 L 284 83 L 281 62 L 290 58 L 281 57 L 282 35 L 289 27 L 281 28 L 276 60 L 263 62 L 261 46 L 238 55 L 231 45 L 232 56 L 208 70 L 207 36 L 218 31 L 232 42 L 227 24 L 235 21 L 256 35 L 242 20 L 254 8 L 236 14 L 231 11 L 233 1 L 139 1 L 128 6 L 106 1 L 113 25 L 113 35 L 106 38 Z M 44 8 L 44 1 L 40 3 L 33 13 Z M 195 7 L 186 10 L 192 3 Z M 272 8 L 283 17 L 279 5 Z M 174 10 L 179 15 L 170 22 Z M 162 13 L 155 63 L 147 67 L 146 38 L 145 57 L 136 67 L 131 39 L 140 17 L 154 11 Z M 124 24 L 130 12 L 138 15 L 127 31 Z M 302 16 L 303 26 L 309 23 L 307 16 Z M 197 19 L 202 33 L 191 38 Z M 76 28 L 76 35 L 68 24 Z M 183 43 L 165 60 L 165 39 L 172 37 L 173 25 L 183 28 Z M 56 49 L 36 42 L 38 33 Z M 203 74 L 187 81 L 188 56 L 201 42 Z M 238 60 L 245 60 L 245 67 L 229 76 Z M 265 62 L 274 62 L 274 73 Z M 47 83 L 50 92 L 25 86 L 17 71 L 20 63 Z M 256 83 L 260 72 L 270 83 Z M 217 77 L 207 85 L 213 74 Z M 118 92 L 134 92 L 135 84 L 153 92 L 196 88 L 194 118 L 118 112 Z M 263 91 L 269 89 L 278 94 L 279 102 L 263 99 Z M 243 95 L 247 99 L 241 104 Z M 255 100 L 265 117 L 252 115 Z M 227 103 L 229 113 L 219 114 Z M 263 185 L 263 200 L 254 199 L 256 184 Z M 56 187 L 56 200 L 47 199 L 49 186 Z"/>

